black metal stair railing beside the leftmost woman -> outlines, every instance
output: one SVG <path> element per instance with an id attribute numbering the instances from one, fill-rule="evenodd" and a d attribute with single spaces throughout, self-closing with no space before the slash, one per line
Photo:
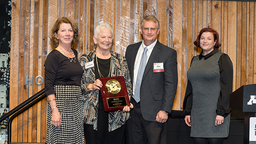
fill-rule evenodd
<path id="1" fill-rule="evenodd" d="M 6 118 L 9 118 L 10 116 L 12 116 L 9 119 L 8 122 L 8 140 L 7 143 L 8 144 L 32 144 L 32 143 L 11 143 L 11 127 L 12 127 L 12 122 L 13 119 L 16 118 L 17 116 L 19 116 L 22 112 L 27 111 L 30 107 L 32 107 L 33 105 L 37 104 L 38 102 L 40 102 L 42 99 L 46 98 L 46 94 L 45 94 L 45 89 L 43 88 L 41 91 L 37 92 L 36 94 L 34 94 L 32 97 L 28 98 L 27 100 L 25 100 L 23 103 L 21 103 L 20 105 L 16 106 L 14 109 L 12 109 L 11 111 L 7 112 L 5 115 L 3 115 L 0 118 L 0 123 L 5 120 Z M 37 143 L 37 144 L 42 144 L 42 143 Z"/>

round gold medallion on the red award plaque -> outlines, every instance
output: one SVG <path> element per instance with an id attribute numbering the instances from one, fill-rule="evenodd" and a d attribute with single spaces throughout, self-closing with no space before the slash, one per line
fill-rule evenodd
<path id="1" fill-rule="evenodd" d="M 106 89 L 111 94 L 118 94 L 121 92 L 121 84 L 115 79 L 109 79 L 106 83 Z"/>

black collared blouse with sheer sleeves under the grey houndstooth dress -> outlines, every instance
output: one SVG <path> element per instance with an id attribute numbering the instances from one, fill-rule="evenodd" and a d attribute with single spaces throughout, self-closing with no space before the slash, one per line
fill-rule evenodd
<path id="1" fill-rule="evenodd" d="M 199 55 L 199 59 L 201 60 L 202 58 L 204 58 L 206 60 L 209 57 L 213 56 L 216 52 L 219 52 L 219 50 L 216 48 L 205 56 L 202 55 L 202 52 Z M 191 63 L 193 59 L 194 57 L 192 58 Z M 226 117 L 231 111 L 231 108 L 229 108 L 229 94 L 232 92 L 232 88 L 229 88 L 229 83 L 227 82 L 233 80 L 233 75 L 230 75 L 230 73 L 233 74 L 233 64 L 229 56 L 225 53 L 222 54 L 218 63 L 220 67 L 220 76 L 221 76 L 221 79 L 220 79 L 221 92 L 217 102 L 216 114 L 222 117 Z M 227 79 L 227 81 L 222 81 L 222 78 Z M 184 102 L 183 102 L 183 111 L 185 115 L 190 115 L 190 110 L 192 107 L 192 98 L 193 98 L 192 85 L 188 80 Z"/>

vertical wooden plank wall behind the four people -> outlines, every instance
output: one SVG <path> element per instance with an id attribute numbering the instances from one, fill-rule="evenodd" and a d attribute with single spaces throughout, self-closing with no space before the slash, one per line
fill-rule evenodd
<path id="1" fill-rule="evenodd" d="M 94 28 L 105 21 L 113 26 L 112 50 L 141 41 L 140 22 L 155 15 L 160 22 L 158 40 L 177 51 L 178 87 L 173 110 L 182 110 L 190 61 L 202 49 L 194 46 L 198 32 L 214 28 L 220 51 L 228 53 L 234 67 L 233 91 L 256 83 L 256 2 L 223 0 L 13 0 L 11 33 L 10 110 L 44 87 L 44 61 L 54 47 L 48 35 L 63 16 L 79 26 L 79 57 L 94 50 Z M 13 42 L 14 41 L 14 42 Z M 27 79 L 31 80 L 26 84 Z M 33 79 L 31 79 L 33 76 Z M 39 83 L 42 79 L 39 79 Z M 32 85 L 30 85 L 32 83 Z M 12 142 L 46 140 L 47 99 L 13 120 Z"/>

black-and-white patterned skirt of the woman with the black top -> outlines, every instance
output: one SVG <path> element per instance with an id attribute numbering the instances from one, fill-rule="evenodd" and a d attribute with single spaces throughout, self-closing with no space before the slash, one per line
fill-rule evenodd
<path id="1" fill-rule="evenodd" d="M 80 86 L 55 85 L 55 99 L 61 114 L 61 129 L 51 124 L 48 104 L 46 144 L 84 144 L 82 95 Z"/>

